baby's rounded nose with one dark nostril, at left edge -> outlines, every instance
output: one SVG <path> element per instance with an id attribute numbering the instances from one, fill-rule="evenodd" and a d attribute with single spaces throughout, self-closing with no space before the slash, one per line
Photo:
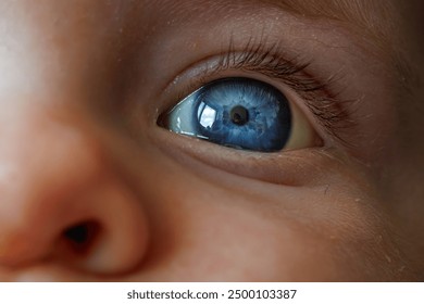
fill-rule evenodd
<path id="1" fill-rule="evenodd" d="M 0 117 L 0 266 L 53 261 L 117 274 L 138 265 L 147 217 L 96 132 L 72 111 L 27 107 Z"/>

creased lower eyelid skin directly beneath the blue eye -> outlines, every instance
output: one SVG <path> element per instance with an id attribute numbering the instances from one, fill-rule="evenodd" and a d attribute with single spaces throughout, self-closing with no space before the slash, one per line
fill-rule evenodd
<path id="1" fill-rule="evenodd" d="M 152 138 L 157 147 L 183 165 L 185 170 L 199 174 L 200 178 L 213 175 L 222 182 L 223 177 L 229 174 L 290 187 L 316 186 L 321 182 L 314 173 L 321 168 L 319 163 L 323 160 L 322 148 L 258 154 L 219 145 L 210 149 L 211 143 L 200 139 L 177 138 L 164 129 L 158 130 L 155 138 Z"/>

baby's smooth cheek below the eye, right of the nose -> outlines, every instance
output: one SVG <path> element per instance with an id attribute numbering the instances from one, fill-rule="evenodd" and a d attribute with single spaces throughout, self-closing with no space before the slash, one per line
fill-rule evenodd
<path id="1" fill-rule="evenodd" d="M 147 163 L 150 186 L 140 177 L 138 189 L 150 189 L 140 193 L 148 198 L 150 252 L 129 280 L 403 276 L 389 224 L 354 172 L 328 165 L 322 175 L 327 187 L 288 187 L 225 174 L 209 178 L 207 170 L 194 174 L 160 153 Z"/>

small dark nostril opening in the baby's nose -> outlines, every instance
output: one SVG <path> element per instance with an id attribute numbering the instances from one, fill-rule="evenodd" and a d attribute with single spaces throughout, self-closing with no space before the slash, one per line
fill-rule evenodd
<path id="1" fill-rule="evenodd" d="M 87 253 L 95 243 L 100 231 L 100 225 L 96 221 L 83 221 L 66 228 L 63 237 L 71 250 L 75 253 Z"/>

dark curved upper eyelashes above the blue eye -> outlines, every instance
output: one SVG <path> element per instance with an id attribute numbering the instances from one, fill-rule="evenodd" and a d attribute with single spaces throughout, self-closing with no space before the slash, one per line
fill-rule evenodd
<path id="1" fill-rule="evenodd" d="M 254 72 L 270 79 L 283 81 L 304 100 L 311 113 L 332 137 L 345 145 L 351 145 L 340 134 L 356 126 L 351 118 L 352 111 L 349 109 L 351 106 L 347 106 L 347 103 L 354 103 L 358 100 L 341 100 L 340 92 L 332 93 L 328 89 L 329 85 L 342 75 L 333 75 L 323 83 L 319 81 L 305 73 L 309 62 L 288 60 L 279 43 L 266 43 L 264 37 L 259 41 L 249 39 L 241 51 L 236 50 L 234 39 L 230 38 L 228 47 L 224 48 L 222 53 L 219 63 L 200 75 L 202 85 L 209 83 L 211 75 L 228 69 Z"/>

